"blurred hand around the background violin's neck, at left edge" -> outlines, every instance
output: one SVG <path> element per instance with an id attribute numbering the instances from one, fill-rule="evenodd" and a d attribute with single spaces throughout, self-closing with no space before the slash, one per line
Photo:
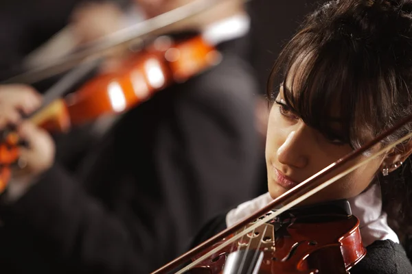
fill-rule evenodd
<path id="1" fill-rule="evenodd" d="M 32 178 L 49 169 L 54 162 L 55 145 L 52 137 L 30 121 L 21 120 L 22 113 L 30 114 L 41 105 L 41 101 L 41 95 L 30 86 L 0 86 L 0 128 L 17 125 L 17 134 L 29 145 L 20 149 L 25 167 L 16 171 L 13 179 Z"/>

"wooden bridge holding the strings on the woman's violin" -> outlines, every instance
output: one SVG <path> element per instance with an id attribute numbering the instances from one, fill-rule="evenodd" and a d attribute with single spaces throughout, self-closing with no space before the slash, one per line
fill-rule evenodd
<path id="1" fill-rule="evenodd" d="M 247 225 L 244 229 L 251 227 L 251 225 L 253 225 L 253 223 Z M 261 249 L 264 251 L 275 251 L 275 229 L 273 225 L 265 223 L 244 235 L 240 238 L 240 240 L 238 240 L 238 249 Z"/>

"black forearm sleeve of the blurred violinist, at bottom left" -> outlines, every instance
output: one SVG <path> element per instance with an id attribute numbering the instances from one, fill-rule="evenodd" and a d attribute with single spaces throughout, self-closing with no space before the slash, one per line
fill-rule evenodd
<path id="1" fill-rule="evenodd" d="M 66 273 L 65 266 L 67 273 L 148 273 L 144 251 L 133 245 L 124 224 L 58 166 L 19 201 L 3 207 L 0 219 L 0 258 L 5 260 L 0 264 L 16 260 L 17 273 L 42 268 L 48 273 L 44 266 L 56 266 L 60 273 Z"/>

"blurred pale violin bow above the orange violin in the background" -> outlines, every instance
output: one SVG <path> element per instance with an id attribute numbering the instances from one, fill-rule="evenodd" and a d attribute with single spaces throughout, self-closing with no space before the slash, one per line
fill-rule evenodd
<path id="1" fill-rule="evenodd" d="M 142 38 L 150 34 L 161 34 L 167 31 L 168 27 L 184 21 L 187 18 L 201 14 L 209 8 L 227 1 L 227 0 L 196 0 L 191 3 L 182 5 L 179 8 L 170 10 L 148 20 L 142 21 L 125 29 L 121 29 L 113 34 L 109 34 L 93 42 L 89 42 L 84 49 L 72 53 L 65 58 L 59 58 L 47 62 L 36 69 L 32 69 L 20 75 L 11 77 L 0 84 L 34 84 L 47 77 L 52 77 L 58 73 L 63 73 L 73 66 L 80 64 L 85 58 L 95 59 L 102 58 L 106 51 L 121 45 L 130 45 L 133 42 L 142 42 Z M 247 3 L 251 0 L 239 0 Z"/>

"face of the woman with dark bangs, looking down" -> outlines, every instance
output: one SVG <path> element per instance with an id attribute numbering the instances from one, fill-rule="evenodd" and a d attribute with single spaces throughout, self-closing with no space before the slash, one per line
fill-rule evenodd
<path id="1" fill-rule="evenodd" d="M 277 103 L 273 103 L 271 108 L 266 137 L 268 189 L 273 199 L 352 151 L 350 145 L 328 140 L 321 132 L 301 121 L 285 104 L 282 89 L 281 87 L 275 100 Z M 331 123 L 334 129 L 339 130 L 339 123 Z M 366 157 L 362 155 L 345 167 Z M 302 204 L 347 199 L 358 195 L 367 188 L 381 164 L 382 158 L 371 160 Z M 331 177 L 332 175 L 327 178 Z"/>

